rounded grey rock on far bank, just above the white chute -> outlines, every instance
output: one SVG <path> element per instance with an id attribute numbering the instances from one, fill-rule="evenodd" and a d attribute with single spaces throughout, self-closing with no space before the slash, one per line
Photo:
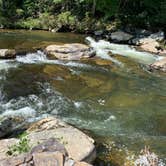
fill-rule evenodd
<path id="1" fill-rule="evenodd" d="M 132 38 L 133 36 L 131 34 L 125 33 L 123 31 L 117 31 L 111 33 L 111 40 L 118 43 L 128 42 Z"/>

